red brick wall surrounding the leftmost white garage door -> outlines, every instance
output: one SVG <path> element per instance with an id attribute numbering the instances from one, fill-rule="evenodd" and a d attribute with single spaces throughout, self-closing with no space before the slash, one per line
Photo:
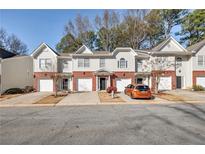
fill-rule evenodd
<path id="1" fill-rule="evenodd" d="M 40 79 L 52 79 L 52 75 L 54 75 L 55 72 L 34 72 L 34 89 L 36 91 L 39 91 L 39 80 Z M 53 91 L 56 90 L 55 83 L 53 82 Z"/>

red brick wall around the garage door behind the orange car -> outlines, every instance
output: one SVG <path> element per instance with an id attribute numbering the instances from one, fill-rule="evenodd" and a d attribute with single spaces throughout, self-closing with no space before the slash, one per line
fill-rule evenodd
<path id="1" fill-rule="evenodd" d="M 135 72 L 114 72 L 111 76 L 111 86 L 116 87 L 117 78 L 131 78 L 132 83 L 135 83 Z"/>

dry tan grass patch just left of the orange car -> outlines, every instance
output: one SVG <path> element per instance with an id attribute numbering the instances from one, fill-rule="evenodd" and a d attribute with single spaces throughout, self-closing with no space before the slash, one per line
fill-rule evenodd
<path id="1" fill-rule="evenodd" d="M 99 92 L 98 96 L 101 102 L 125 102 L 119 95 L 115 94 L 115 97 L 112 98 L 111 94 L 107 92 Z"/>

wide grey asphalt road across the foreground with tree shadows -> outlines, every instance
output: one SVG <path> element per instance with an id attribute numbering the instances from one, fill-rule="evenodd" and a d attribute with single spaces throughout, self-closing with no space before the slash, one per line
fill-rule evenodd
<path id="1" fill-rule="evenodd" d="M 0 144 L 205 144 L 205 105 L 0 108 Z"/>

